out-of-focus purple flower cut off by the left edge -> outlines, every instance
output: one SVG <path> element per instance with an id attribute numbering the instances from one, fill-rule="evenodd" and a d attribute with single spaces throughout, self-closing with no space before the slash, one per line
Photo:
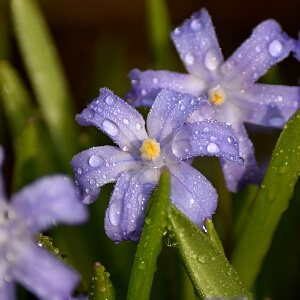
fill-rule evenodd
<path id="1" fill-rule="evenodd" d="M 0 147 L 0 167 L 2 162 Z M 56 222 L 77 224 L 86 219 L 86 208 L 64 176 L 39 179 L 7 202 L 0 175 L 0 299 L 16 299 L 15 282 L 42 299 L 67 299 L 78 274 L 40 248 L 34 237 Z"/>

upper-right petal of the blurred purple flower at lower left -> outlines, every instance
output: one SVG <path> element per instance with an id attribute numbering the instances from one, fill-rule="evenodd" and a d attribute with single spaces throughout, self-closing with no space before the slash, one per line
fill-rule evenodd
<path id="1" fill-rule="evenodd" d="M 47 176 L 13 195 L 16 215 L 24 219 L 31 233 L 52 227 L 56 222 L 78 224 L 87 220 L 87 209 L 75 194 L 73 182 L 63 175 Z"/>

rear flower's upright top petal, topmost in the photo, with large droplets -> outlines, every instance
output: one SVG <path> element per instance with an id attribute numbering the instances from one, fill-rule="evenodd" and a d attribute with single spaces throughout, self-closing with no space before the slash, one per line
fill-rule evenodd
<path id="1" fill-rule="evenodd" d="M 216 79 L 223 56 L 208 12 L 201 9 L 171 33 L 188 72 L 205 81 Z"/>

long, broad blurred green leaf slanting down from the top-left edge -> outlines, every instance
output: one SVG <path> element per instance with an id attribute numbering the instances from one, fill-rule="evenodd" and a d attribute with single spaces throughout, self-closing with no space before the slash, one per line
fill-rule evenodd
<path id="1" fill-rule="evenodd" d="M 23 61 L 57 151 L 69 159 L 76 153 L 72 98 L 58 53 L 35 0 L 10 0 Z M 69 164 L 65 163 L 69 168 Z"/>

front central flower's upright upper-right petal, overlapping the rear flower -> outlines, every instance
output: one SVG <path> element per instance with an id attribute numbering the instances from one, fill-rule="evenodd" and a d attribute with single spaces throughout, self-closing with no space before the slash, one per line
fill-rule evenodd
<path id="1" fill-rule="evenodd" d="M 156 97 L 147 117 L 149 137 L 162 143 L 171 133 L 183 125 L 200 105 L 208 104 L 205 97 L 177 93 L 163 89 Z"/>

